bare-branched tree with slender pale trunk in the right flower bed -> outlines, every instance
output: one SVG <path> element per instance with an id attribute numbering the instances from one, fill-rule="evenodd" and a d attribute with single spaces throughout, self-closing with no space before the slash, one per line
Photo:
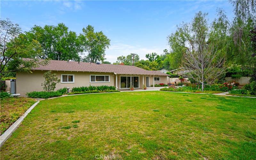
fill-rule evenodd
<path id="1" fill-rule="evenodd" d="M 188 71 L 183 76 L 202 84 L 202 91 L 204 84 L 212 84 L 225 73 L 225 56 L 219 56 L 222 53 L 216 47 L 219 40 L 210 37 L 214 28 L 209 26 L 206 16 L 198 12 L 192 23 L 181 26 L 181 33 L 186 35 L 181 66 Z"/>

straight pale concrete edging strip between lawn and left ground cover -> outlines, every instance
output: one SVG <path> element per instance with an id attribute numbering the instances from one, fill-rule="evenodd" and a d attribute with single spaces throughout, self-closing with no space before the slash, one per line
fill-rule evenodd
<path id="1" fill-rule="evenodd" d="M 0 136 L 0 147 L 4 144 L 4 142 L 12 135 L 12 133 L 20 126 L 21 122 L 24 120 L 24 118 L 28 115 L 28 113 L 39 103 L 40 101 L 37 101 L 34 103 L 28 110 L 20 116 L 20 118 L 15 121 L 5 132 Z"/>

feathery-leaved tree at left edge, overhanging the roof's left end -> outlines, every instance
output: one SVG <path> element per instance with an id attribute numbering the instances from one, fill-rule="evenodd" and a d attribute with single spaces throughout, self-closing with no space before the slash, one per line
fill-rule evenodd
<path id="1" fill-rule="evenodd" d="M 9 19 L 0 20 L 0 30 L 1 74 L 28 72 L 33 67 L 47 64 L 47 60 L 38 59 L 43 55 L 40 43 L 22 34 L 18 24 L 13 24 Z"/>

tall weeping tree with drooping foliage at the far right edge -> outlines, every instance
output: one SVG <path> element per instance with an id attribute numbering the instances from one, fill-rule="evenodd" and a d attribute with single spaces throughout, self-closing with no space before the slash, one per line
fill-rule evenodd
<path id="1" fill-rule="evenodd" d="M 229 64 L 256 67 L 256 58 L 253 55 L 253 30 L 256 26 L 256 1 L 236 0 L 230 1 L 234 6 L 235 17 L 228 20 L 225 12 L 219 10 L 218 22 L 225 24 L 226 52 Z"/>

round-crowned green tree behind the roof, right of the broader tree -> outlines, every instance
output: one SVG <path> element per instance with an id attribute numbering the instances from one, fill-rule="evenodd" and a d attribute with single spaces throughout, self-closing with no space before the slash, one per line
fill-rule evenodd
<path id="1" fill-rule="evenodd" d="M 79 35 L 84 51 L 88 55 L 83 59 L 85 62 L 104 61 L 105 50 L 110 46 L 110 39 L 102 31 L 94 32 L 94 27 L 88 25 L 83 28 L 83 33 Z"/>

